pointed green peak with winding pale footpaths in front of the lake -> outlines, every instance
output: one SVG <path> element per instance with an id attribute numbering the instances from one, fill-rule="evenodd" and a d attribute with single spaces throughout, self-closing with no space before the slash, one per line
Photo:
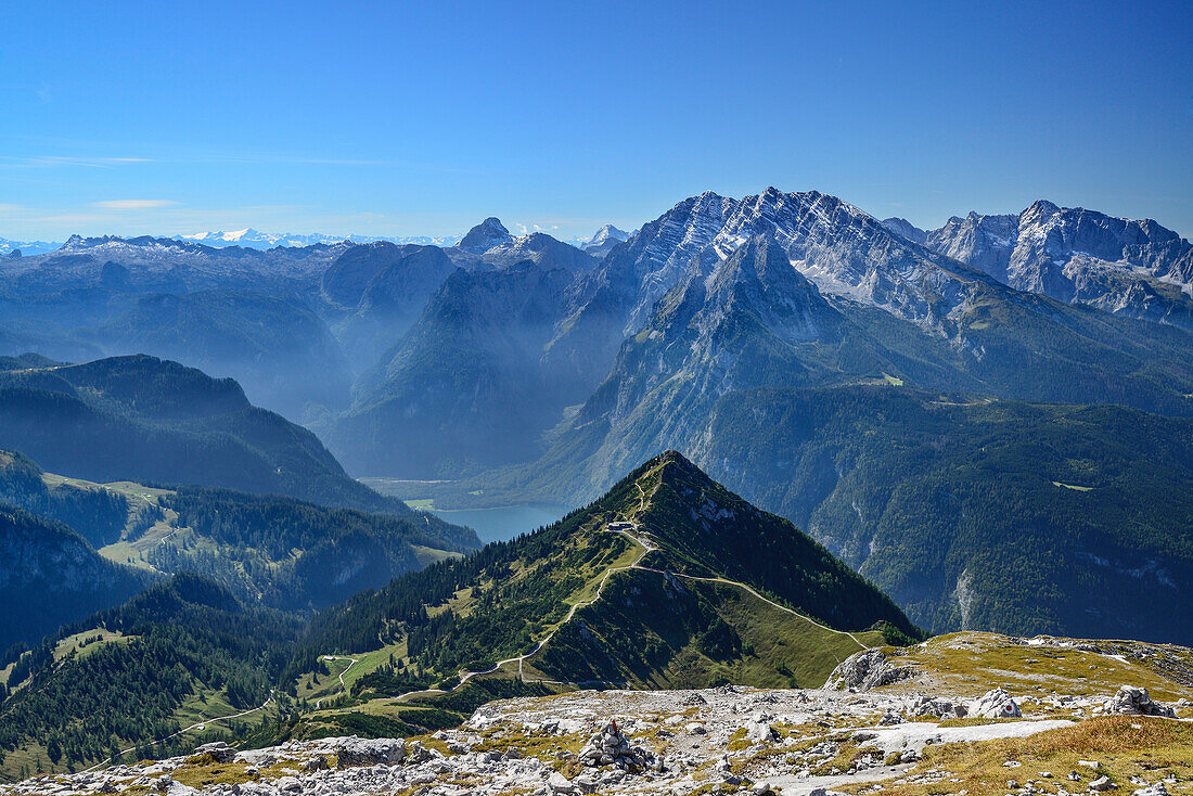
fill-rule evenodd
<path id="1" fill-rule="evenodd" d="M 321 613 L 290 675 L 319 672 L 328 654 L 361 658 L 352 687 L 364 701 L 437 681 L 450 687 L 471 680 L 468 672 L 488 673 L 476 686 L 484 692 L 570 683 L 820 685 L 884 635 L 920 630 L 789 522 L 668 452 L 551 526 Z M 303 683 L 299 696 L 319 693 Z M 422 696 L 429 702 L 412 710 L 457 709 L 453 696 L 441 705 L 435 692 Z M 335 726 L 340 711 L 316 710 L 310 721 Z"/>

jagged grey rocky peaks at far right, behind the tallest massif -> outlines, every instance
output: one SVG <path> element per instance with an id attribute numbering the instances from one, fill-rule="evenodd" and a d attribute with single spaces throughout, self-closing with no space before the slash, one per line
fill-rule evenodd
<path id="1" fill-rule="evenodd" d="M 1039 200 L 1018 216 L 950 218 L 927 246 L 1016 290 L 1193 328 L 1193 246 L 1151 220 Z"/>

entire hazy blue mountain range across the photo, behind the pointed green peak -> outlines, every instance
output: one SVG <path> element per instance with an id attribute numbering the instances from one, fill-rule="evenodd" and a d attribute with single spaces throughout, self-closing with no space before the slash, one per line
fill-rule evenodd
<path id="1" fill-rule="evenodd" d="M 1138 590 L 1180 603 L 1191 576 L 1162 487 L 1193 450 L 1188 241 L 1046 202 L 921 230 L 767 189 L 575 243 L 495 217 L 451 246 L 73 237 L 0 260 L 0 354 L 146 352 L 234 377 L 317 434 L 316 457 L 440 507 L 580 505 L 674 449 L 933 630 L 1177 633 Z M 1123 450 L 1163 455 L 1145 474 Z M 288 475 L 268 463 L 261 483 Z M 328 473 L 321 489 L 350 488 Z M 1123 479 L 1138 486 L 1115 500 Z M 959 533 L 966 517 L 984 519 Z M 1009 544 L 1024 538 L 1032 554 Z M 989 549 L 1033 576 L 991 575 Z M 1138 566 L 1115 560 L 1131 550 Z M 1065 584 L 1055 599 L 1014 609 L 1044 573 Z M 1074 573 L 1139 576 L 1090 619 Z"/>

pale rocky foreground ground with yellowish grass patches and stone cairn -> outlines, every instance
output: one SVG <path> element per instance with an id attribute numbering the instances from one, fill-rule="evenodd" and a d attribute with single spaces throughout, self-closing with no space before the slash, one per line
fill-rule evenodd
<path id="1" fill-rule="evenodd" d="M 820 690 L 508 699 L 419 739 L 210 743 L 0 794 L 1175 796 L 1193 794 L 1191 664 L 1179 647 L 957 634 L 859 653 Z"/>

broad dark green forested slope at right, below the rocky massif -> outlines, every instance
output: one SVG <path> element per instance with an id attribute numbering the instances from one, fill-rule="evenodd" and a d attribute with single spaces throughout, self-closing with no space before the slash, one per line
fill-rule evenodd
<path id="1" fill-rule="evenodd" d="M 644 414 L 624 439 L 655 424 Z M 1189 419 L 889 383 L 747 387 L 685 433 L 693 461 L 928 629 L 1193 641 L 1180 609 L 1193 593 Z M 503 494 L 575 494 L 600 439 L 560 446 L 528 483 L 511 473 Z M 602 453 L 587 493 L 645 448 Z M 1160 596 L 1177 610 L 1156 611 Z"/>

